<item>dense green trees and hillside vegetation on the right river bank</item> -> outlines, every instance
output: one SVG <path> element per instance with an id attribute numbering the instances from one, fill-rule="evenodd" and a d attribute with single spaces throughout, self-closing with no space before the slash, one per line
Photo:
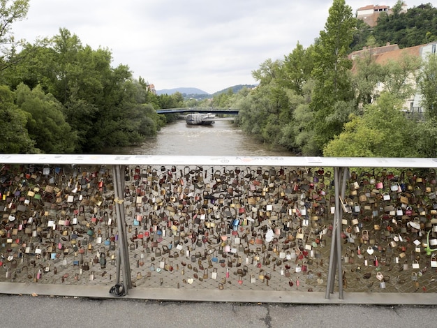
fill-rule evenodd
<path id="1" fill-rule="evenodd" d="M 403 57 L 385 66 L 353 50 L 387 42 L 412 47 L 437 40 L 437 10 L 430 3 L 393 15 L 380 15 L 371 29 L 357 20 L 343 0 L 334 0 L 325 29 L 313 45 L 297 43 L 282 60 L 266 59 L 252 75 L 253 91 L 214 96 L 212 103 L 239 107 L 236 122 L 263 142 L 280 144 L 305 156 L 435 157 L 437 149 L 437 61 Z M 422 68 L 422 74 L 418 74 Z M 410 80 L 417 78 L 417 85 Z M 387 92 L 378 93 L 382 82 Z M 403 102 L 424 95 L 425 116 L 407 117 Z M 374 100 L 378 99 L 377 102 Z"/>

